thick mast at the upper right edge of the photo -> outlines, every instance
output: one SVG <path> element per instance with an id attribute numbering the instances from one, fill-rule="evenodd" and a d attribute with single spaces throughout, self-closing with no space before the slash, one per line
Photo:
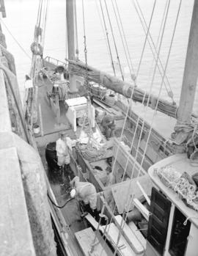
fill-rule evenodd
<path id="1" fill-rule="evenodd" d="M 198 0 L 194 0 L 177 122 L 190 122 L 198 76 Z"/>

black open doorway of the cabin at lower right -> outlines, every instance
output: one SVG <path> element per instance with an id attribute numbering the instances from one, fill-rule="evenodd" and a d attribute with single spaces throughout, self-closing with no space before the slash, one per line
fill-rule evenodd
<path id="1" fill-rule="evenodd" d="M 191 222 L 187 222 L 186 226 L 183 222 L 186 216 L 175 208 L 174 219 L 172 222 L 172 234 L 170 238 L 169 254 L 172 256 L 183 256 L 186 252 L 187 238 L 190 232 Z"/>

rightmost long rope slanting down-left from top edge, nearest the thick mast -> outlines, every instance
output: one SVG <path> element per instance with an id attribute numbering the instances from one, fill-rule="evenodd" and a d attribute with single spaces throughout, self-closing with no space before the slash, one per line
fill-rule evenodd
<path id="1" fill-rule="evenodd" d="M 171 40 L 171 43 L 170 43 L 170 46 L 169 46 L 169 53 L 168 53 L 168 56 L 167 56 L 167 59 L 166 59 L 166 66 L 165 66 L 165 70 L 164 70 L 164 76 L 163 76 L 162 81 L 161 81 L 161 87 L 160 87 L 160 91 L 158 93 L 158 100 L 157 100 L 157 103 L 156 103 L 156 106 L 155 106 L 155 113 L 153 114 L 153 119 L 152 119 L 152 122 L 151 122 L 150 131 L 149 131 L 148 138 L 147 138 L 147 143 L 146 143 L 145 149 L 144 149 L 144 156 L 145 156 L 145 153 L 147 151 L 147 145 L 148 145 L 148 142 L 149 142 L 149 139 L 150 139 L 150 134 L 151 134 L 151 131 L 152 131 L 153 120 L 154 120 L 154 116 L 155 116 L 155 114 L 157 112 L 157 107 L 158 107 L 159 97 L 161 95 L 161 89 L 162 89 L 162 85 L 163 85 L 163 80 L 164 80 L 164 77 L 165 77 L 166 68 L 167 68 L 168 63 L 169 63 L 169 56 L 170 56 L 170 53 L 171 53 L 171 50 L 172 50 L 172 43 L 173 43 L 173 40 L 174 40 L 174 37 L 175 37 L 175 31 L 176 31 L 177 21 L 178 21 L 179 14 L 180 14 L 181 4 L 182 4 L 182 0 L 180 0 L 180 4 L 179 4 L 179 7 L 178 7 L 178 11 L 177 11 L 177 18 L 176 18 L 174 30 L 173 30 L 173 33 L 172 33 L 172 40 Z M 142 157 L 141 167 L 142 167 L 142 164 L 143 164 L 144 156 Z"/>

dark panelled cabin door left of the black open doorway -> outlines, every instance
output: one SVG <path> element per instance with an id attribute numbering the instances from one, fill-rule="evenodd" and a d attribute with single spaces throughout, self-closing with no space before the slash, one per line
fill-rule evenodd
<path id="1" fill-rule="evenodd" d="M 171 202 L 157 189 L 152 188 L 147 241 L 159 255 L 163 255 L 169 224 Z"/>

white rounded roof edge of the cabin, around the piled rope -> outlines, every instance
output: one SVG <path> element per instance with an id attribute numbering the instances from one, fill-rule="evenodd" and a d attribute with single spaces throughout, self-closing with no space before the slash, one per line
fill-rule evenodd
<path id="1" fill-rule="evenodd" d="M 194 211 L 193 209 L 186 206 L 183 200 L 180 199 L 179 195 L 174 190 L 165 186 L 164 183 L 161 182 L 158 175 L 155 174 L 155 168 L 166 166 L 172 166 L 177 169 L 178 172 L 187 172 L 189 175 L 193 175 L 195 172 L 197 172 L 197 167 L 193 166 L 191 161 L 187 158 L 186 153 L 183 153 L 176 154 L 174 156 L 165 158 L 162 161 L 159 161 L 150 167 L 150 169 L 148 169 L 148 174 L 153 180 L 153 183 L 155 183 L 155 186 L 157 186 L 158 189 L 161 190 L 166 195 L 166 197 L 168 197 L 168 199 L 186 216 L 186 218 L 189 218 L 189 220 L 198 227 L 197 211 Z"/>

